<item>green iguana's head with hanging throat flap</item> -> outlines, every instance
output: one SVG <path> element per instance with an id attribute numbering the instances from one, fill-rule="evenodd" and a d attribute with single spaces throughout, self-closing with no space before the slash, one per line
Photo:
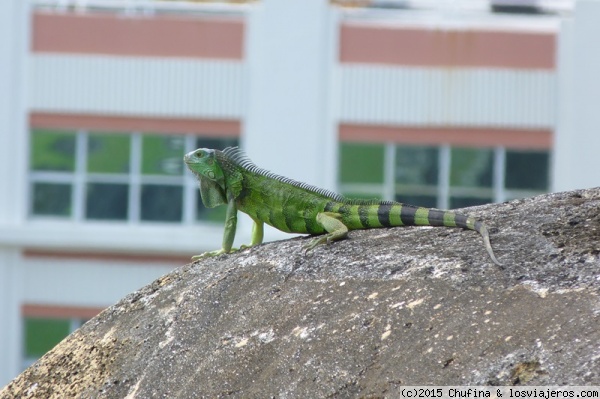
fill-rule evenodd
<path id="1" fill-rule="evenodd" d="M 198 179 L 204 206 L 214 208 L 227 203 L 225 176 L 215 150 L 199 148 L 185 154 L 183 161 Z"/>

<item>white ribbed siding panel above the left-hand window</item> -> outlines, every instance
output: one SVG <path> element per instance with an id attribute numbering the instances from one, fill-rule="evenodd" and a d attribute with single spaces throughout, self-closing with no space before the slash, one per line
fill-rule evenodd
<path id="1" fill-rule="evenodd" d="M 238 119 L 244 65 L 222 60 L 32 55 L 34 112 Z"/>

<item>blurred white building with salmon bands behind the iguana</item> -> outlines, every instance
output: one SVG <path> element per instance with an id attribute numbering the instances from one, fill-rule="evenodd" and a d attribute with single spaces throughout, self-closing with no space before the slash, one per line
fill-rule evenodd
<path id="1" fill-rule="evenodd" d="M 600 184 L 596 0 L 1 9 L 0 385 L 220 246 L 192 149 L 440 208 Z"/>

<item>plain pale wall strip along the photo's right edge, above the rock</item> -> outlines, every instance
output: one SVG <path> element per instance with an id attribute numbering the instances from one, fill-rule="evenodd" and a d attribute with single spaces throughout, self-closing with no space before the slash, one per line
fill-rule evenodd
<path id="1" fill-rule="evenodd" d="M 559 41 L 553 191 L 600 186 L 600 0 L 575 2 Z"/>

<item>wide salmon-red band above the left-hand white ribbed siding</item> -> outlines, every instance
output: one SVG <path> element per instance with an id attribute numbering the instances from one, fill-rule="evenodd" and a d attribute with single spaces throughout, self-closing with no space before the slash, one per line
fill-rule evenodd
<path id="1" fill-rule="evenodd" d="M 243 42 L 241 17 L 33 14 L 34 52 L 241 60 Z"/>

